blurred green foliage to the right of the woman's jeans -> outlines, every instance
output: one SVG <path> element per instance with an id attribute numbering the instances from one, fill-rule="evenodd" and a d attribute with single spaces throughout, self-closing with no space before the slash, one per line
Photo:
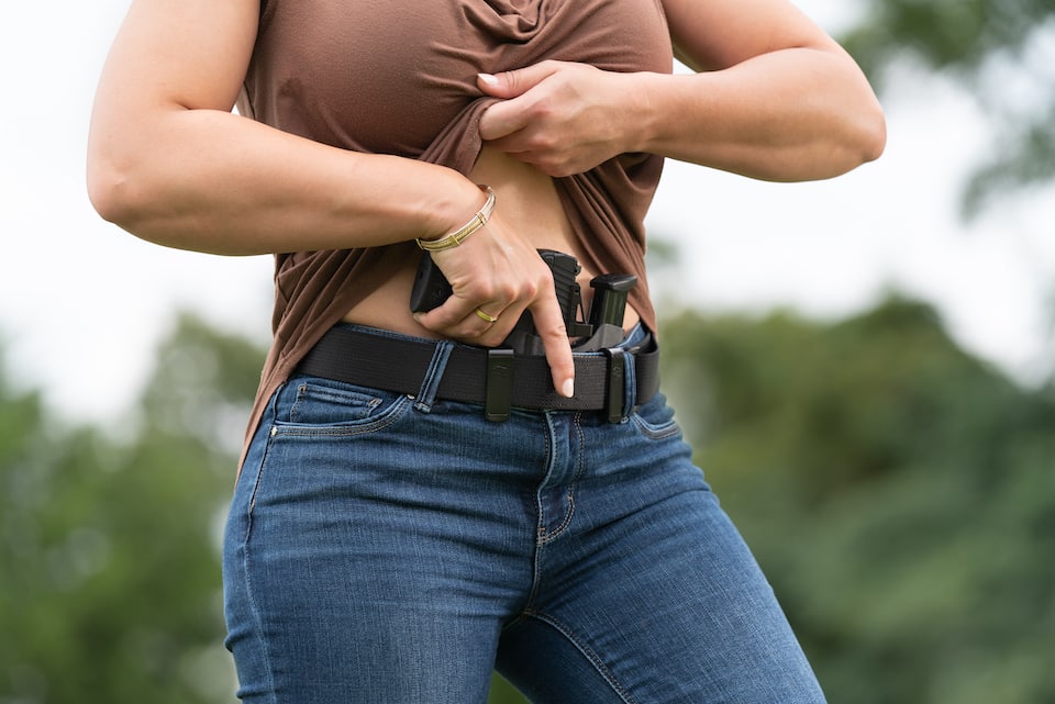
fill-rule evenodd
<path id="1" fill-rule="evenodd" d="M 664 331 L 697 459 L 830 701 L 1055 702 L 1055 388 L 909 301 Z"/>

